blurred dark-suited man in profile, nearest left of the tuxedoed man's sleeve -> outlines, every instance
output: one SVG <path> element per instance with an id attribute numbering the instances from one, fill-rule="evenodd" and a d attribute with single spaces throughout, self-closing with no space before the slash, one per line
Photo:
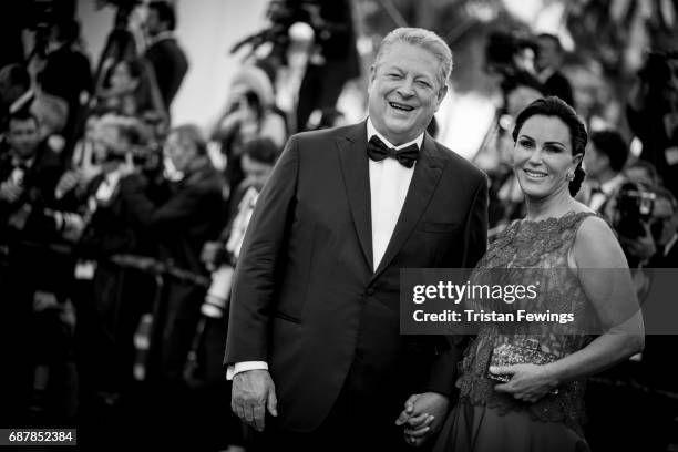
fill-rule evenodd
<path id="1" fill-rule="evenodd" d="M 199 130 L 194 125 L 173 129 L 165 141 L 166 165 L 172 179 L 153 181 L 134 174 L 121 184 L 130 208 L 131 225 L 155 237 L 156 256 L 178 270 L 206 276 L 201 261 L 205 242 L 224 226 L 223 177 L 212 165 Z M 153 187 L 156 197 L 148 196 Z M 181 383 L 184 363 L 199 319 L 205 288 L 191 281 L 167 281 L 164 318 L 154 319 L 162 331 L 160 377 L 171 386 Z M 160 336 L 158 336 L 160 337 Z"/>

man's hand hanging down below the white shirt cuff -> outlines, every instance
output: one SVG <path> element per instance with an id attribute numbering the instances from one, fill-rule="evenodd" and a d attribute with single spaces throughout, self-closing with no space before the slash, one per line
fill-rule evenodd
<path id="1" fill-rule="evenodd" d="M 268 370 L 247 370 L 233 378 L 230 408 L 257 431 L 264 431 L 267 409 L 270 415 L 278 415 L 277 404 L 276 387 Z"/>

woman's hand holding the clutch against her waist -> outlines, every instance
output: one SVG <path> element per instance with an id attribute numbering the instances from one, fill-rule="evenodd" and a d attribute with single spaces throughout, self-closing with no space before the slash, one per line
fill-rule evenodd
<path id="1" fill-rule="evenodd" d="M 492 366 L 490 372 L 511 376 L 511 381 L 496 384 L 495 391 L 512 394 L 515 399 L 526 402 L 536 402 L 544 396 L 553 393 L 558 386 L 549 364 Z"/>

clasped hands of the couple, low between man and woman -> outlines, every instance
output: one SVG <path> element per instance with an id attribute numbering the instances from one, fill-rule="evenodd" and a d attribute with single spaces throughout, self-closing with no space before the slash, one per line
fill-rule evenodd
<path id="1" fill-rule="evenodd" d="M 405 408 L 396 424 L 404 425 L 408 444 L 420 446 L 441 429 L 448 407 L 448 398 L 438 392 L 412 394 L 405 401 Z"/>

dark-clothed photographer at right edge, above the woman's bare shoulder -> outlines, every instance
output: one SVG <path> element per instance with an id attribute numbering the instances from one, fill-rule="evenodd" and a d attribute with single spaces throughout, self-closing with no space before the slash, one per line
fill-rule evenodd
<path id="1" fill-rule="evenodd" d="M 626 116 L 643 142 L 640 158 L 678 196 L 678 51 L 653 51 L 630 91 Z"/>

